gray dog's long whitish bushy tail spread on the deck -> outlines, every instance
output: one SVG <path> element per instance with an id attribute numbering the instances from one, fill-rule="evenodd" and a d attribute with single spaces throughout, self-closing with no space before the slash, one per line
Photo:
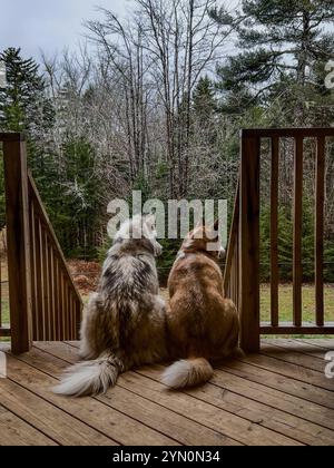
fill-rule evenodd
<path id="1" fill-rule="evenodd" d="M 116 384 L 121 371 L 120 360 L 106 352 L 94 361 L 80 362 L 67 369 L 53 392 L 66 397 L 106 393 L 109 387 Z"/>

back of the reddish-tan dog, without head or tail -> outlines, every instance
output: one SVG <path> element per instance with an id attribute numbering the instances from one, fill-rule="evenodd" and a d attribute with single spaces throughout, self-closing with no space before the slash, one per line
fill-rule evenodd
<path id="1" fill-rule="evenodd" d="M 222 272 L 214 260 L 204 253 L 179 259 L 170 273 L 168 287 L 167 323 L 175 353 L 181 350 L 183 358 L 215 359 L 237 347 L 237 312 L 235 305 L 224 299 Z"/>

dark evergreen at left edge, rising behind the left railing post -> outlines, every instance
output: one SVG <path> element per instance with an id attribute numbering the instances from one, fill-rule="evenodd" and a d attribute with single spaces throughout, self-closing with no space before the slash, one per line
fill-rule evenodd
<path id="1" fill-rule="evenodd" d="M 29 168 L 42 195 L 55 176 L 55 158 L 49 133 L 53 125 L 53 108 L 47 97 L 46 82 L 32 58 L 23 59 L 20 49 L 0 53 L 4 64 L 7 86 L 0 89 L 0 129 L 22 131 L 28 144 Z M 43 188 L 46 188 L 43 191 Z"/>

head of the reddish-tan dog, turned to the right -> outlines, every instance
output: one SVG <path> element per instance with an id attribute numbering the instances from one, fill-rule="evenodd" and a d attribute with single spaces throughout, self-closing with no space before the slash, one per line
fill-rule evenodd
<path id="1" fill-rule="evenodd" d="M 205 226 L 198 224 L 185 238 L 181 251 L 185 253 L 205 252 L 215 259 L 223 259 L 225 250 L 218 233 L 219 222 Z"/>

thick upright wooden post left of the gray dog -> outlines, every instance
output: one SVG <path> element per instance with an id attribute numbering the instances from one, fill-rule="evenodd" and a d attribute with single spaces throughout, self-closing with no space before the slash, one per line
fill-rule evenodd
<path id="1" fill-rule="evenodd" d="M 4 140 L 3 157 L 11 347 L 19 354 L 32 344 L 28 170 L 19 134 Z"/>

